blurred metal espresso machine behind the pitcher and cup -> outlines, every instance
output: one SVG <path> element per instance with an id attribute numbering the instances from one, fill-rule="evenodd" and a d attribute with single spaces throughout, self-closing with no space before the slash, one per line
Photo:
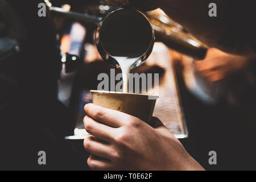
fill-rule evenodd
<path id="1" fill-rule="evenodd" d="M 105 1 L 45 0 L 45 3 L 55 22 L 60 43 L 62 69 L 59 100 L 73 113 L 74 133 L 68 134 L 66 139 L 83 139 L 88 135 L 82 119 L 85 116 L 84 105 L 92 102 L 89 90 L 97 89 L 97 76 L 100 73 L 110 75 L 110 69 L 113 69 L 113 66 L 102 61 L 97 51 L 94 39 L 96 29 L 106 15 L 120 7 L 106 5 Z M 146 64 L 133 69 L 132 73 L 159 73 L 162 99 L 156 104 L 156 116 L 165 122 L 177 138 L 186 138 L 188 131 L 169 48 L 195 60 L 202 60 L 207 53 L 207 47 L 162 10 L 144 14 L 154 30 L 156 45 Z M 115 75 L 120 72 L 115 68 Z M 163 107 L 166 109 L 163 110 Z"/>

